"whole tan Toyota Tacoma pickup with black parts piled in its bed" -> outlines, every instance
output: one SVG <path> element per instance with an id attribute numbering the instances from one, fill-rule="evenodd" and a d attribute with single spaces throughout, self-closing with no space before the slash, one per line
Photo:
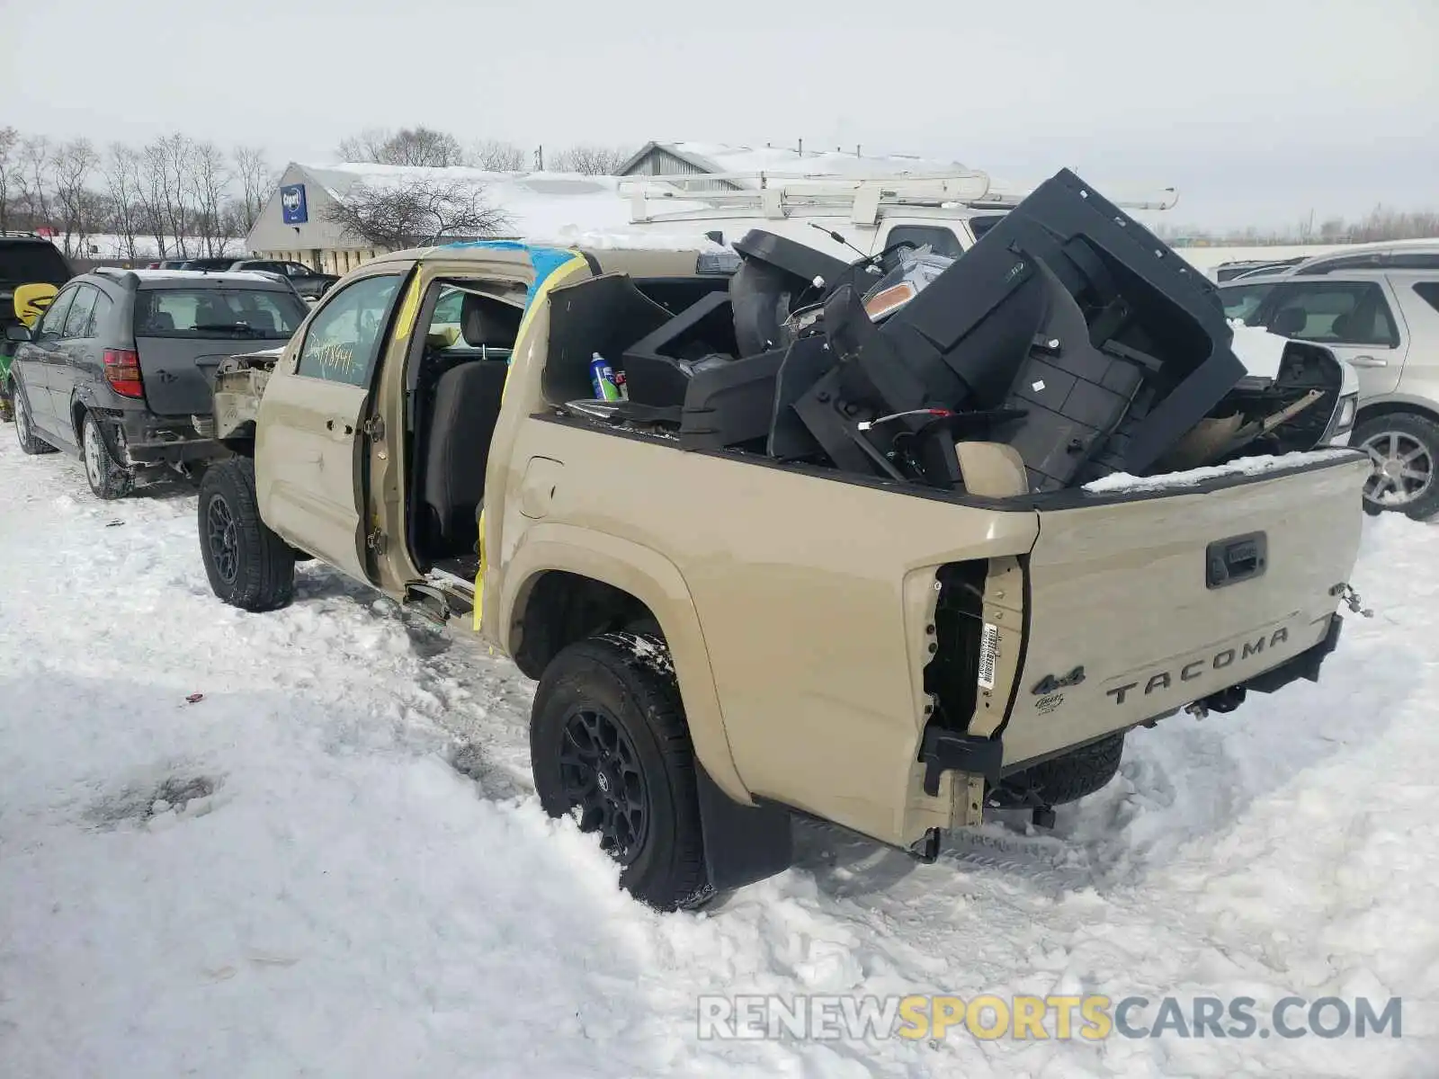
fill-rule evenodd
<path id="1" fill-rule="evenodd" d="M 932 859 L 1318 678 L 1367 459 L 1324 350 L 1229 345 L 1068 173 L 953 263 L 406 250 L 222 364 L 200 545 L 246 610 L 314 557 L 473 626 L 538 680 L 545 810 L 655 906 L 780 872 L 794 814 Z"/>

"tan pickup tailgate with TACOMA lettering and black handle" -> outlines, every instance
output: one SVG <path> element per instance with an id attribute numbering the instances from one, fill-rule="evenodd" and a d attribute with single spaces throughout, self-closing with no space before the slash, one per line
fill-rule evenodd
<path id="1" fill-rule="evenodd" d="M 1320 643 L 1358 554 L 1364 457 L 1040 509 L 1004 768 Z M 1082 669 L 1082 670 L 1081 670 Z"/>

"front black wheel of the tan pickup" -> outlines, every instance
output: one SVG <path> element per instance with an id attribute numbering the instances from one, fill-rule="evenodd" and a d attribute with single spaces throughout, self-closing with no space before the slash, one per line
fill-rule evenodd
<path id="1" fill-rule="evenodd" d="M 232 607 L 275 610 L 295 596 L 295 554 L 260 519 L 255 462 L 230 457 L 200 481 L 200 552 L 210 588 Z"/>

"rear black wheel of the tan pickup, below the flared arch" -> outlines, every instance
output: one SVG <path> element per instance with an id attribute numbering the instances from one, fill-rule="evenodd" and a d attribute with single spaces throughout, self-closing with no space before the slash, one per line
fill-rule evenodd
<path id="1" fill-rule="evenodd" d="M 560 652 L 535 691 L 530 754 L 545 813 L 577 809 L 620 863 L 620 888 L 661 911 L 711 895 L 695 751 L 663 640 L 604 633 Z"/>

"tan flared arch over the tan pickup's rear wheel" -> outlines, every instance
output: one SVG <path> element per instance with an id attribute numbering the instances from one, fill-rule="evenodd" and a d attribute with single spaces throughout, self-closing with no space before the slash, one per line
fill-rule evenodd
<path id="1" fill-rule="evenodd" d="M 753 804 L 730 750 L 699 614 L 673 563 L 627 540 L 540 524 L 507 560 L 498 598 L 495 636 L 528 678 L 538 678 L 544 663 L 573 643 L 568 637 L 653 619 L 675 665 L 695 760 L 730 798 Z M 593 604 L 602 620 L 627 622 L 594 624 L 594 616 L 574 614 L 574 604 Z"/>

